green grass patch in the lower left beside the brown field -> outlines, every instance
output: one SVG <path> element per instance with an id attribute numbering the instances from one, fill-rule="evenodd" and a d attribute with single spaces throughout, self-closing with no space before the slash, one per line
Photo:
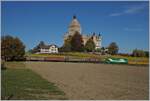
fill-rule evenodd
<path id="1" fill-rule="evenodd" d="M 54 83 L 49 83 L 33 71 L 7 68 L 1 71 L 1 99 L 61 100 L 67 98 Z"/>

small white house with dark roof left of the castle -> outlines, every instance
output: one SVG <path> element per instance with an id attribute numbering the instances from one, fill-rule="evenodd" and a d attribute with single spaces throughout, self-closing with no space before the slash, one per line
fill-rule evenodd
<path id="1" fill-rule="evenodd" d="M 58 53 L 58 46 L 52 45 L 45 45 L 40 48 L 40 53 Z"/>

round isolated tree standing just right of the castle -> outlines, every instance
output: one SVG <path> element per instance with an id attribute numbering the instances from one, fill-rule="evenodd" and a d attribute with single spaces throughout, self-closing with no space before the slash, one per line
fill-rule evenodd
<path id="1" fill-rule="evenodd" d="M 108 46 L 108 52 L 111 55 L 115 55 L 118 53 L 119 47 L 115 42 L 110 43 L 110 45 Z"/>

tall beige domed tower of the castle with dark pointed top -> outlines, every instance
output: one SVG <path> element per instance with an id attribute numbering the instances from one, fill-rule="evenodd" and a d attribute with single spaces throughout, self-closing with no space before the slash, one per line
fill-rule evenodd
<path id="1" fill-rule="evenodd" d="M 69 26 L 69 33 L 73 34 L 76 31 L 78 31 L 79 33 L 81 33 L 81 27 L 80 27 L 80 23 L 78 22 L 76 16 L 73 16 L 73 20 Z"/>

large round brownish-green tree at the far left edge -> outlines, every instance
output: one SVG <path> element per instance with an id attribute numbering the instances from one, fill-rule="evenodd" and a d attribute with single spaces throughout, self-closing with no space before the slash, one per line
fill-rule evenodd
<path id="1" fill-rule="evenodd" d="M 2 36 L 1 38 L 1 55 L 2 59 L 22 60 L 24 59 L 25 45 L 17 38 L 10 35 Z"/>

